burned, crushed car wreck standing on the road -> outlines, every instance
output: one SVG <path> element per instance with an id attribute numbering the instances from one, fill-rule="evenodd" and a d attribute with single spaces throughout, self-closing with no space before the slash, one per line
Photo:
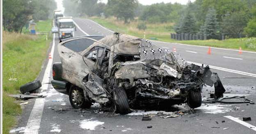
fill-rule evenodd
<path id="1" fill-rule="evenodd" d="M 58 44 L 61 63 L 53 65 L 52 85 L 69 94 L 74 108 L 100 103 L 103 110 L 127 114 L 132 109 L 201 106 L 203 85 L 225 89 L 209 66 L 187 64 L 178 53 L 130 35 L 102 39 L 78 37 Z M 80 49 L 81 48 L 81 49 Z"/>

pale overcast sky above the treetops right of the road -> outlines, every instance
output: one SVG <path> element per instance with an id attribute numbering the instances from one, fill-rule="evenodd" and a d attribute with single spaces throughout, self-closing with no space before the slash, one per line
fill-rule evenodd
<path id="1" fill-rule="evenodd" d="M 101 0 L 104 3 L 107 3 L 107 0 Z M 169 3 L 171 2 L 172 4 L 177 2 L 177 3 L 181 3 L 181 4 L 187 4 L 189 0 L 139 0 L 139 3 L 144 4 L 144 5 L 150 5 L 150 4 L 154 4 L 154 3 L 161 3 L 161 2 L 165 2 L 165 3 Z M 191 2 L 194 2 L 195 0 L 190 0 Z"/>

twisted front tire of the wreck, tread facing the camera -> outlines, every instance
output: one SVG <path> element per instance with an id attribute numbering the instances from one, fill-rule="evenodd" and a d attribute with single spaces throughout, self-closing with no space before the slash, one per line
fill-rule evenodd
<path id="1" fill-rule="evenodd" d="M 119 114 L 130 113 L 128 97 L 126 91 L 123 88 L 117 88 L 113 91 L 113 96 L 116 105 L 116 112 Z"/>

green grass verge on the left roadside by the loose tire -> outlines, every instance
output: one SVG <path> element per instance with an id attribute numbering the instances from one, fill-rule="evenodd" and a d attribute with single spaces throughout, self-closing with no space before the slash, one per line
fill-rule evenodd
<path id="1" fill-rule="evenodd" d="M 47 22 L 47 23 L 46 23 Z M 50 31 L 50 21 L 38 22 L 37 29 Z M 3 134 L 9 134 L 21 114 L 20 105 L 8 94 L 19 93 L 19 87 L 39 75 L 51 42 L 46 35 L 3 32 Z"/>

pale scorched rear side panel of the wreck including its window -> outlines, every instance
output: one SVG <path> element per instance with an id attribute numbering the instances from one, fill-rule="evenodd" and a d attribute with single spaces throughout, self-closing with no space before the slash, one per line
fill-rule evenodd
<path id="1" fill-rule="evenodd" d="M 82 88 L 82 79 L 94 67 L 95 62 L 83 58 L 80 52 L 91 46 L 94 41 L 88 38 L 75 39 L 58 45 L 62 62 L 62 78 Z"/>

